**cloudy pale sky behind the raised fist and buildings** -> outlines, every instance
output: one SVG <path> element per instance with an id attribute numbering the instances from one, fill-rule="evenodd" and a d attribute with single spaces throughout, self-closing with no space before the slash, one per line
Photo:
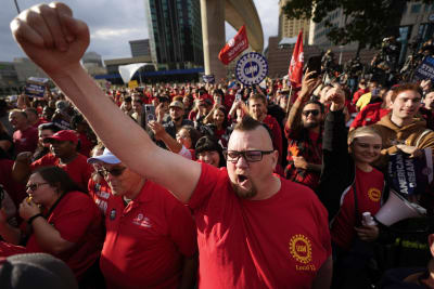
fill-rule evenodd
<path id="1" fill-rule="evenodd" d="M 23 11 L 44 0 L 17 0 Z M 104 60 L 130 57 L 129 40 L 145 39 L 148 25 L 143 0 L 64 0 L 75 17 L 85 21 L 91 34 L 88 51 L 94 51 Z M 265 47 L 268 37 L 278 34 L 279 0 L 254 0 L 264 30 Z M 1 0 L 0 9 L 0 61 L 11 62 L 24 56 L 14 42 L 9 23 L 16 15 L 14 0 Z M 226 25 L 226 37 L 230 39 L 235 30 Z"/>

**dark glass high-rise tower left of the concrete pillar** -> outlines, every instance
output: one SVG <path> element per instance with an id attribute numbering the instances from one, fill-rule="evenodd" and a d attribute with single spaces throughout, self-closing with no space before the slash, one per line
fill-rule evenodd
<path id="1" fill-rule="evenodd" d="M 152 61 L 167 69 L 203 66 L 200 0 L 144 0 Z"/>

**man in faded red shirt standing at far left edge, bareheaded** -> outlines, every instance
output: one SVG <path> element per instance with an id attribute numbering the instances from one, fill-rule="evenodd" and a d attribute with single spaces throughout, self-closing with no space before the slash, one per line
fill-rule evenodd
<path id="1" fill-rule="evenodd" d="M 15 129 L 12 136 L 15 145 L 15 153 L 34 153 L 38 145 L 38 129 L 28 123 L 26 113 L 18 109 L 12 110 L 9 114 L 9 121 Z"/>

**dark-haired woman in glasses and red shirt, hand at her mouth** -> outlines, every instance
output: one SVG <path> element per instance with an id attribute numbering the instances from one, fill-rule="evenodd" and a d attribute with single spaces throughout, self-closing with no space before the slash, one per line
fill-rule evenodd
<path id="1" fill-rule="evenodd" d="M 101 214 L 92 199 L 58 167 L 36 170 L 26 185 L 29 198 L 20 205 L 24 224 L 13 227 L 0 214 L 3 257 L 18 252 L 46 252 L 63 260 L 79 283 L 97 278 L 102 241 Z M 17 247 L 23 240 L 25 248 Z M 13 246 L 16 245 L 16 246 Z"/>

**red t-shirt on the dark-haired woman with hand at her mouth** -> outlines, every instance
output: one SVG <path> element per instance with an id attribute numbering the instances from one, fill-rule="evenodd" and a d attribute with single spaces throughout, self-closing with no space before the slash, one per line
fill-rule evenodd
<path id="1" fill-rule="evenodd" d="M 104 239 L 101 213 L 92 199 L 81 192 L 67 193 L 49 215 L 47 222 L 61 237 L 75 246 L 55 254 L 63 260 L 79 279 L 98 259 Z M 31 235 L 26 248 L 29 252 L 43 252 Z"/>

